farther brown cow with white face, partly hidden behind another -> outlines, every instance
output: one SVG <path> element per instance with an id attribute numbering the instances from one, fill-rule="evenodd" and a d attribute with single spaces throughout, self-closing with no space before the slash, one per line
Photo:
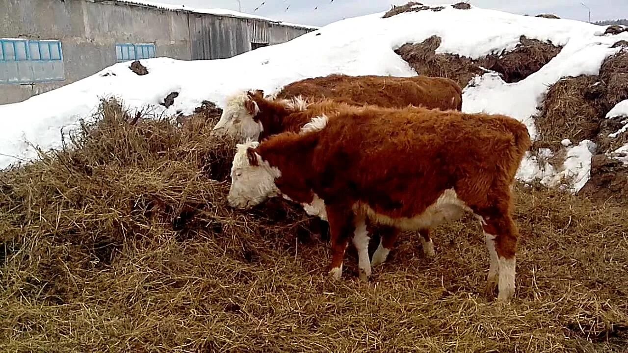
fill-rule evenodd
<path id="1" fill-rule="evenodd" d="M 267 112 L 251 100 L 263 99 L 262 90 L 241 92 L 227 98 L 220 121 L 214 126 L 216 135 L 229 134 L 239 143 L 249 139 L 261 141 L 263 138 L 298 131 L 305 125 L 295 125 L 284 121 L 282 115 Z M 297 97 L 302 99 L 293 100 Z M 409 105 L 429 109 L 462 109 L 462 89 L 455 81 L 443 77 L 393 77 L 393 76 L 347 76 L 328 75 L 305 79 L 286 85 L 275 102 L 283 102 L 295 108 L 302 107 L 304 100 L 333 99 L 357 106 L 373 104 L 381 107 L 402 108 Z M 292 100 L 291 100 L 292 99 Z"/>

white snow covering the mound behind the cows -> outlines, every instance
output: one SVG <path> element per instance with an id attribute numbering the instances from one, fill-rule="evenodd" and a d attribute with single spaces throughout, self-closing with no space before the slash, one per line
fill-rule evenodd
<path id="1" fill-rule="evenodd" d="M 563 77 L 597 74 L 604 59 L 620 50 L 611 46 L 624 39 L 622 35 L 604 36 L 605 26 L 568 19 L 548 21 L 477 7 L 457 10 L 449 4 L 442 6 L 445 9 L 439 12 L 411 12 L 386 19 L 381 18 L 384 13 L 375 13 L 344 19 L 295 40 L 228 59 L 141 60 L 149 71 L 143 76 L 131 72 L 129 62 L 117 63 L 60 89 L 0 106 L 0 168 L 36 156 L 24 141 L 43 149 L 60 146 L 60 129 L 68 131 L 79 118 L 89 119 L 102 97 L 119 97 L 131 109 L 148 108 L 154 114 L 191 114 L 203 100 L 224 107 L 225 97 L 240 90 L 263 89 L 273 94 L 296 80 L 330 73 L 409 77 L 416 72 L 394 50 L 433 35 L 441 37 L 437 52 L 472 58 L 512 50 L 522 35 L 564 46 L 539 72 L 520 82 L 507 84 L 496 73 L 487 72 L 472 79 L 463 91 L 463 111 L 512 116 L 524 122 L 535 139 L 532 117 L 548 88 Z M 179 95 L 173 106 L 160 106 L 174 91 Z M 19 120 L 11 119 L 18 116 Z M 538 157 L 526 155 L 517 178 L 549 184 L 557 176 L 573 173 L 582 183 L 590 169 L 586 161 L 590 153 L 584 149 L 582 143 L 570 148 L 575 155 L 568 163 L 578 161 L 578 165 L 568 164 L 560 171 L 543 162 L 543 153 Z"/>

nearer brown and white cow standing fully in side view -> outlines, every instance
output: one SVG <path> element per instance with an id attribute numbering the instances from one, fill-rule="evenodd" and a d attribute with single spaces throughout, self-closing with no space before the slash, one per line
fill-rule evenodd
<path id="1" fill-rule="evenodd" d="M 518 234 L 511 186 L 531 144 L 526 126 L 498 114 L 336 104 L 318 128 L 239 144 L 229 204 L 242 209 L 278 195 L 310 203 L 318 195 L 334 278 L 350 234 L 364 231 L 367 218 L 414 230 L 472 212 L 489 250 L 489 288 L 497 284 L 498 300 L 511 300 Z"/>

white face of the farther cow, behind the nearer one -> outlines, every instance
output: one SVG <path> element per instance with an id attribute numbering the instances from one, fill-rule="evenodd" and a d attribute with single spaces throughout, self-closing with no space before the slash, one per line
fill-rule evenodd
<path id="1" fill-rule="evenodd" d="M 227 99 L 220 121 L 214 126 L 212 134 L 229 135 L 238 143 L 244 143 L 248 139 L 257 141 L 264 130 L 262 123 L 253 119 L 257 113 L 259 107 L 247 92 L 233 95 Z"/>

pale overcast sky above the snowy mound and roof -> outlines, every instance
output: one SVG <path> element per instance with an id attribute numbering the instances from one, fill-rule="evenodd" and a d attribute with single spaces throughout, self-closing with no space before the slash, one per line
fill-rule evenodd
<path id="1" fill-rule="evenodd" d="M 153 0 L 161 3 L 196 8 L 238 9 L 237 0 Z M 519 14 L 553 13 L 561 18 L 587 21 L 582 0 L 471 0 L 480 8 L 497 9 Z M 265 4 L 261 5 L 263 2 Z M 323 26 L 342 18 L 386 11 L 396 0 L 241 0 L 242 12 L 259 14 L 281 21 Z M 458 1 L 425 0 L 424 4 L 457 3 Z M 591 20 L 628 18 L 628 0 L 584 0 L 591 8 Z M 318 9 L 315 9 L 317 8 Z M 257 11 L 254 11 L 254 9 Z"/>

